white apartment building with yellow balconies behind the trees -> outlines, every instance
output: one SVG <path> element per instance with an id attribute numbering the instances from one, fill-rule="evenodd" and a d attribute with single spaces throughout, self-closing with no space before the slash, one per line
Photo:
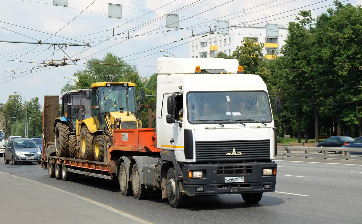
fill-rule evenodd
<path id="1" fill-rule="evenodd" d="M 218 33 L 218 31 L 220 31 Z M 195 35 L 190 42 L 191 58 L 213 58 L 220 51 L 231 55 L 237 46 L 241 46 L 244 37 L 256 43 L 265 43 L 264 55 L 267 59 L 277 57 L 287 37 L 287 28 L 278 24 L 258 26 L 231 25 L 228 29 L 220 29 L 216 25 L 212 34 L 204 32 Z"/>

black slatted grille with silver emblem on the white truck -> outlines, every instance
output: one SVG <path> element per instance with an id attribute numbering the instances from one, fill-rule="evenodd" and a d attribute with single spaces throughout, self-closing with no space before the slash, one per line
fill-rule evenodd
<path id="1" fill-rule="evenodd" d="M 196 161 L 270 160 L 270 140 L 207 141 L 195 144 Z"/>

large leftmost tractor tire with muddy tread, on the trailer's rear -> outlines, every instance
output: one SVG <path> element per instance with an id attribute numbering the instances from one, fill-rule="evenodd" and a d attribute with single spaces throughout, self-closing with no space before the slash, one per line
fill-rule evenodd
<path id="1" fill-rule="evenodd" d="M 67 157 L 69 155 L 68 149 L 68 134 L 69 127 L 63 123 L 56 123 L 55 131 L 55 153 L 56 156 Z"/>

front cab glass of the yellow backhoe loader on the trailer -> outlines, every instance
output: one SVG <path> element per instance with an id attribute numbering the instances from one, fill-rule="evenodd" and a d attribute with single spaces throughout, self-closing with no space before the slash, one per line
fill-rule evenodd
<path id="1" fill-rule="evenodd" d="M 127 97 L 126 97 L 126 88 L 128 88 L 128 107 L 129 111 L 137 111 L 134 98 L 134 87 L 121 86 L 121 85 L 111 85 L 110 87 L 100 87 L 99 96 L 100 96 L 100 106 L 101 113 L 106 111 L 114 112 L 119 111 L 119 107 L 123 107 L 123 111 L 127 109 Z"/>

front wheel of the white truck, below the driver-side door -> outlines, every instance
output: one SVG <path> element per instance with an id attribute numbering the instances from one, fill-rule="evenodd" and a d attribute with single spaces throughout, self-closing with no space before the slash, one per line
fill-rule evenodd
<path id="1" fill-rule="evenodd" d="M 186 195 L 182 195 L 180 192 L 179 181 L 176 179 L 176 172 L 171 167 L 167 171 L 166 189 L 167 199 L 172 208 L 182 208 L 186 204 Z"/>

